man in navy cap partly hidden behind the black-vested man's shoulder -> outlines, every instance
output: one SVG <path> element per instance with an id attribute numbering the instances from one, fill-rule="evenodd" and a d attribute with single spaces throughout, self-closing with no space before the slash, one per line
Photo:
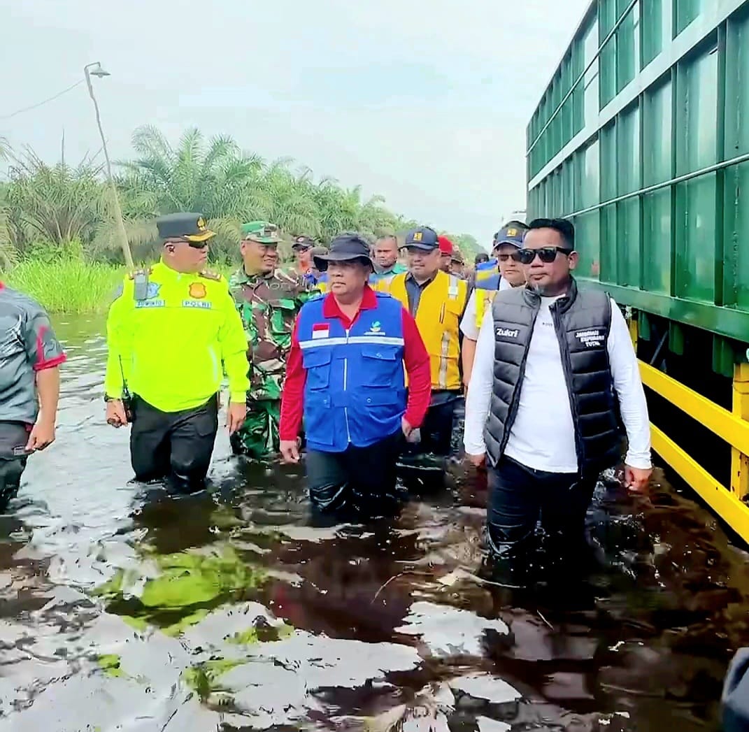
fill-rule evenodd
<path id="1" fill-rule="evenodd" d="M 518 221 L 504 225 L 494 234 L 495 259 L 488 261 L 485 268 L 477 269 L 475 287 L 468 298 L 468 305 L 461 320 L 463 334 L 463 383 L 467 387 L 476 357 L 476 342 L 484 320 L 484 314 L 491 310 L 491 303 L 499 290 L 521 287 L 525 284 L 525 274 L 521 263 L 513 259 L 523 245 L 527 226 Z"/>

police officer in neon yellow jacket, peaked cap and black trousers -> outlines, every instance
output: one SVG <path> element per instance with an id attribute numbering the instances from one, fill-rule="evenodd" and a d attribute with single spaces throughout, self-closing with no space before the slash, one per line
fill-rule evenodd
<path id="1" fill-rule="evenodd" d="M 201 489 L 228 376 L 227 426 L 237 430 L 249 389 L 247 341 L 228 283 L 205 269 L 215 234 L 198 213 L 157 221 L 160 263 L 125 278 L 109 308 L 106 418 L 132 423 L 130 460 L 140 481 L 169 478 Z"/>

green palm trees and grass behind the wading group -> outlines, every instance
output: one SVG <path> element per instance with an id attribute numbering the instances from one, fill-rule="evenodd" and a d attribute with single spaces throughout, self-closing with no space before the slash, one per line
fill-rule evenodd
<path id="1" fill-rule="evenodd" d="M 222 135 L 207 140 L 189 129 L 176 147 L 154 127 L 133 133 L 135 157 L 118 163 L 117 186 L 125 228 L 136 262 L 158 256 L 157 216 L 198 211 L 218 236 L 215 266 L 237 261 L 244 221 L 277 223 L 285 243 L 299 234 L 329 242 L 342 231 L 367 237 L 415 225 L 388 210 L 381 196 L 363 198 L 360 186 L 315 180 L 290 159 L 267 162 Z M 121 272 L 112 194 L 102 166 L 86 158 L 49 165 L 32 150 L 16 153 L 0 138 L 0 159 L 9 163 L 0 182 L 0 273 L 50 311 L 106 309 Z M 449 234 L 467 257 L 479 249 L 467 235 Z"/>

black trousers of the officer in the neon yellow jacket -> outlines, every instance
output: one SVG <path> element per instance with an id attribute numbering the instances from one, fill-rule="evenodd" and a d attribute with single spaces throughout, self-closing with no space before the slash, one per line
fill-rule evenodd
<path id="1" fill-rule="evenodd" d="M 219 428 L 218 397 L 195 409 L 162 412 L 133 397 L 130 462 L 139 481 L 169 478 L 183 492 L 199 490 Z"/>

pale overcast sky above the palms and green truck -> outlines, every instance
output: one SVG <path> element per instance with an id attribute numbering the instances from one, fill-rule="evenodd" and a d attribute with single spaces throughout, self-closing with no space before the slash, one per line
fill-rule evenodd
<path id="1" fill-rule="evenodd" d="M 486 245 L 525 206 L 525 126 L 588 0 L 0 0 L 0 135 L 115 158 L 136 126 L 225 132 Z"/>

